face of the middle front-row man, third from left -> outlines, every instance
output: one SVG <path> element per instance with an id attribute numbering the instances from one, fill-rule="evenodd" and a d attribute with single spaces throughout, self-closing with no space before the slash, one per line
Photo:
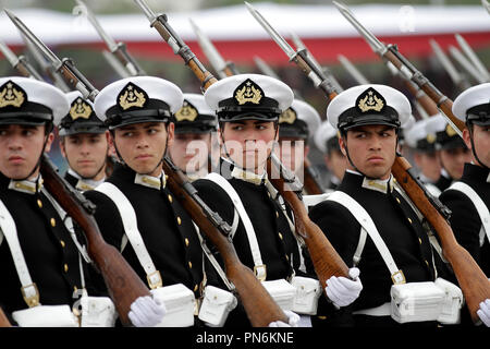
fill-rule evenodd
<path id="1" fill-rule="evenodd" d="M 261 172 L 277 141 L 273 121 L 241 120 L 224 122 L 222 140 L 231 159 L 252 172 Z"/>

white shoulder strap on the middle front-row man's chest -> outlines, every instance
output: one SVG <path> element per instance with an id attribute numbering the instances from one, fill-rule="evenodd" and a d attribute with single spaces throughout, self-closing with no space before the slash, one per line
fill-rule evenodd
<path id="1" fill-rule="evenodd" d="M 245 231 L 247 233 L 248 243 L 250 245 L 252 257 L 254 258 L 254 272 L 259 280 L 265 280 L 267 277 L 266 265 L 262 263 L 262 256 L 260 254 L 260 249 L 258 245 L 257 237 L 255 236 L 254 226 L 252 225 L 250 218 L 243 206 L 242 200 L 236 193 L 235 189 L 228 180 L 225 180 L 221 174 L 211 172 L 206 176 L 206 179 L 217 183 L 220 185 L 226 194 L 230 196 L 233 205 L 235 206 L 236 212 L 242 218 L 242 222 L 245 227 Z"/>

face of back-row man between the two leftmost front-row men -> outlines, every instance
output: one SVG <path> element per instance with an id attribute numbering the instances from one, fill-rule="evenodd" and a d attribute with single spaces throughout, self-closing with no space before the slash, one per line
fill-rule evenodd
<path id="1" fill-rule="evenodd" d="M 108 144 L 109 131 L 106 131 L 66 135 L 60 147 L 72 170 L 82 178 L 101 180 L 105 177 Z"/>

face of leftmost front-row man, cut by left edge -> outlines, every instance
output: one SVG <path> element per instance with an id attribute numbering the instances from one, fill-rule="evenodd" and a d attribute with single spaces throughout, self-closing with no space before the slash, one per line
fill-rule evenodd
<path id="1" fill-rule="evenodd" d="M 52 133 L 45 134 L 45 125 L 0 125 L 0 172 L 10 179 L 26 179 L 42 152 L 49 152 L 52 140 Z M 32 177 L 37 174 L 38 170 Z"/>

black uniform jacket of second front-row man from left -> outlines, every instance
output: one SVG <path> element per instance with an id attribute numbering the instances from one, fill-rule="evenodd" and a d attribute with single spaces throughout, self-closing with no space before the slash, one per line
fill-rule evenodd
<path id="1" fill-rule="evenodd" d="M 198 297 L 203 253 L 191 218 L 169 189 L 136 184 L 135 176 L 128 167 L 117 165 L 106 181 L 118 186 L 132 204 L 138 230 L 163 286 L 184 284 Z M 97 206 L 95 217 L 105 240 L 121 250 L 125 232 L 114 202 L 97 191 L 87 191 L 84 195 Z M 122 255 L 147 284 L 145 270 L 130 242 Z"/>

